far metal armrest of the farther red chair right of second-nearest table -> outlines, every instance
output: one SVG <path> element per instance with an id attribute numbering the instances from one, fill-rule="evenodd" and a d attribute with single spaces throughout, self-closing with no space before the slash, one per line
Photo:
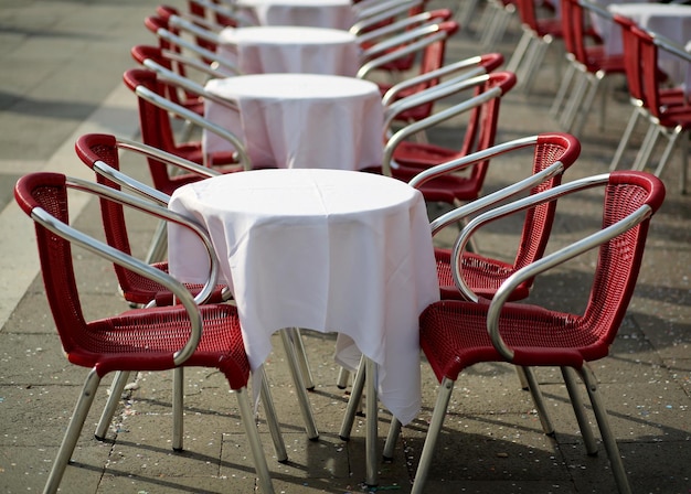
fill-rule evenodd
<path id="1" fill-rule="evenodd" d="M 434 86 L 436 89 L 439 89 L 445 86 L 458 84 L 461 80 L 469 79 L 478 75 L 487 74 L 488 72 L 491 72 L 495 68 L 497 68 L 502 63 L 503 63 L 503 55 L 501 53 L 489 53 L 485 55 L 470 56 L 468 58 L 464 58 L 458 62 L 447 64 L 435 71 L 429 71 L 424 74 L 410 77 L 405 80 L 402 80 L 393 85 L 386 92 L 386 94 L 384 94 L 384 97 L 382 98 L 382 103 L 384 104 L 384 106 L 390 105 L 402 90 L 407 89 L 410 87 L 414 87 L 418 84 L 427 83 L 429 80 L 434 80 L 440 77 L 446 77 L 456 72 L 466 71 L 460 76 L 454 77 L 453 79 L 440 82 Z"/>

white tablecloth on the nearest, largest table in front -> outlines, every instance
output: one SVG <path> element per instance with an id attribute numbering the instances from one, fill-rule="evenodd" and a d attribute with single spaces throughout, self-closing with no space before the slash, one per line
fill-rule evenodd
<path id="1" fill-rule="evenodd" d="M 403 423 L 415 417 L 418 315 L 439 298 L 417 190 L 364 172 L 255 170 L 182 186 L 169 207 L 209 230 L 253 369 L 269 355 L 277 330 L 339 332 L 337 359 L 357 345 L 379 365 L 386 408 Z M 202 281 L 206 272 L 199 240 L 174 225 L 169 262 L 183 281 Z"/>

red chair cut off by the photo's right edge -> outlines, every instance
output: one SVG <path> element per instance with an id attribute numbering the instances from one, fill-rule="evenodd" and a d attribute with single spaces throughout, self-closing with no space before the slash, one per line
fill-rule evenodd
<path id="1" fill-rule="evenodd" d="M 619 146 L 610 163 L 615 170 L 629 147 L 631 133 L 639 117 L 648 120 L 648 131 L 634 161 L 634 170 L 644 170 L 648 167 L 660 135 L 668 139 L 655 175 L 660 176 L 671 157 L 679 136 L 691 129 L 691 104 L 680 88 L 663 88 L 668 82 L 667 75 L 659 69 L 659 50 L 672 52 L 681 60 L 691 62 L 691 56 L 683 49 L 667 44 L 650 33 L 638 28 L 631 20 L 615 15 L 615 21 L 621 26 L 624 54 L 626 58 L 626 77 L 634 105 L 634 112 L 621 136 Z M 681 139 L 681 192 L 685 193 L 688 175 L 688 139 Z"/>

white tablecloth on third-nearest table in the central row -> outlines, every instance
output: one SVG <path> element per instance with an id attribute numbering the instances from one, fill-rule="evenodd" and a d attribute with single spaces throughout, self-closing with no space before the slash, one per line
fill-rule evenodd
<path id="1" fill-rule="evenodd" d="M 360 44 L 348 31 L 325 28 L 227 28 L 217 51 L 245 74 L 304 73 L 354 77 Z"/>

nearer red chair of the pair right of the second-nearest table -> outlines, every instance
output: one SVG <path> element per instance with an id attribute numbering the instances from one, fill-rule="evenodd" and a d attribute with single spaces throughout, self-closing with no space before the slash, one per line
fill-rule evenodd
<path id="1" fill-rule="evenodd" d="M 433 114 L 427 119 L 411 124 L 395 132 L 386 142 L 382 172 L 410 182 L 415 175 L 434 165 L 460 159 L 486 150 L 495 144 L 501 98 L 515 84 L 515 75 L 510 72 L 495 72 L 471 79 L 461 80 L 456 87 L 442 92 L 429 92 L 430 98 L 444 96 L 444 92 L 470 89 L 472 97 L 449 109 Z M 405 100 L 402 100 L 402 104 Z M 417 103 L 413 100 L 413 103 Z M 393 108 L 391 111 L 396 111 Z M 432 143 L 406 140 L 418 129 L 429 128 L 457 115 L 467 118 L 459 148 L 446 148 Z M 428 202 L 458 206 L 475 201 L 481 195 L 489 161 L 472 165 L 466 175 L 445 174 L 425 182 L 419 190 Z"/>

